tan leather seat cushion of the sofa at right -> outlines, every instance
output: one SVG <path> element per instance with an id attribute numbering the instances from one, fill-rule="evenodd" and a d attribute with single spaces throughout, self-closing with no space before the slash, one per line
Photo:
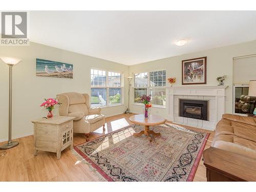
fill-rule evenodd
<path id="1" fill-rule="evenodd" d="M 256 142 L 235 135 L 215 136 L 211 146 L 256 159 Z"/>

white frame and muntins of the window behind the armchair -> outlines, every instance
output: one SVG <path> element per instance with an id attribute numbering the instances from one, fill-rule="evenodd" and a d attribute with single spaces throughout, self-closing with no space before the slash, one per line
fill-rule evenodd
<path id="1" fill-rule="evenodd" d="M 100 71 L 105 71 L 106 72 L 106 86 L 92 86 L 91 84 L 91 70 L 100 70 Z M 93 68 L 91 67 L 91 70 L 90 70 L 90 84 L 91 84 L 91 89 L 90 89 L 90 105 L 91 105 L 91 93 L 92 93 L 92 88 L 101 88 L 101 89 L 106 89 L 106 105 L 99 105 L 99 106 L 95 106 L 95 107 L 100 107 L 100 108 L 106 108 L 108 106 L 117 106 L 117 105 L 123 105 L 124 104 L 124 93 L 123 93 L 123 72 L 120 72 L 120 71 L 115 71 L 115 70 L 106 70 L 106 69 L 99 69 L 99 68 Z M 120 73 L 121 75 L 121 86 L 120 87 L 109 87 L 109 72 L 115 72 L 115 73 Z M 115 103 L 115 104 L 110 104 L 109 103 L 109 89 L 111 88 L 115 88 L 115 89 L 118 89 L 118 88 L 121 88 L 121 102 L 120 103 Z"/>

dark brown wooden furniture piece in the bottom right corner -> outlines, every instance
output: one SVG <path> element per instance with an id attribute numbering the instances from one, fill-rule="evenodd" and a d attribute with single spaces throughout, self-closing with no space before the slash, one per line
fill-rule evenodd
<path id="1" fill-rule="evenodd" d="M 203 152 L 207 181 L 256 181 L 256 160 L 210 147 Z"/>

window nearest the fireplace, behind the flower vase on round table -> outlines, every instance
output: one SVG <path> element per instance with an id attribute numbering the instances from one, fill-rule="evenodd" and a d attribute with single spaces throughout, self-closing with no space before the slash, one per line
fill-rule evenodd
<path id="1" fill-rule="evenodd" d="M 148 74 L 150 76 L 148 77 Z M 152 71 L 134 75 L 134 102 L 141 103 L 142 95 L 151 95 L 152 104 L 165 106 L 166 71 Z"/>

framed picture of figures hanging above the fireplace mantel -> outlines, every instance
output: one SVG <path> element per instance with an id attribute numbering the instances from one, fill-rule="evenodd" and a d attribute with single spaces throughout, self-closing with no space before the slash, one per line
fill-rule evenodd
<path id="1" fill-rule="evenodd" d="M 207 57 L 182 60 L 182 84 L 206 84 Z"/>

